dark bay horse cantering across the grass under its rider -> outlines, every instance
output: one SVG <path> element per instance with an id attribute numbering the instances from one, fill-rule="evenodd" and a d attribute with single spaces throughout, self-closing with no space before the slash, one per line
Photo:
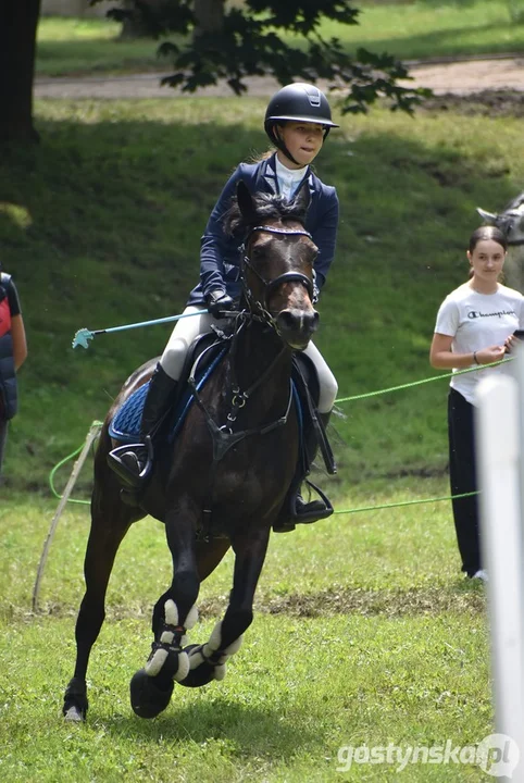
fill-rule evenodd
<path id="1" fill-rule="evenodd" d="M 230 349 L 194 403 L 175 443 L 159 443 L 153 476 L 140 506 L 123 502 L 107 463 L 114 443 L 109 423 L 153 370 L 149 362 L 123 386 L 108 413 L 95 458 L 91 527 L 85 557 L 86 592 L 76 622 L 76 666 L 63 713 L 86 717 L 89 655 L 104 620 L 108 582 L 129 526 L 150 514 L 165 525 L 173 580 L 152 616 L 154 641 L 130 681 L 135 712 L 153 718 L 169 705 L 174 682 L 190 687 L 221 680 L 225 662 L 252 621 L 257 583 L 272 525 L 294 480 L 299 423 L 291 391 L 294 351 L 317 328 L 313 308 L 316 247 L 303 224 L 304 185 L 294 201 L 257 194 L 240 183 L 226 228 L 245 232 L 242 299 Z M 203 532 L 203 535 L 202 535 Z M 188 644 L 197 622 L 200 583 L 233 548 L 229 604 L 204 644 Z"/>

